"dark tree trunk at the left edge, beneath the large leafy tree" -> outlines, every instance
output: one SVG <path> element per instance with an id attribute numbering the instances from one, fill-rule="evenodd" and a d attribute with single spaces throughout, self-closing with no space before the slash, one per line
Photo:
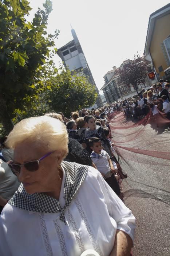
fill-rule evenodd
<path id="1" fill-rule="evenodd" d="M 13 129 L 13 123 L 11 121 L 11 118 L 7 112 L 7 104 L 6 101 L 3 99 L 3 97 L 0 97 L 0 122 L 2 123 L 5 132 L 7 135 L 9 132 Z"/>

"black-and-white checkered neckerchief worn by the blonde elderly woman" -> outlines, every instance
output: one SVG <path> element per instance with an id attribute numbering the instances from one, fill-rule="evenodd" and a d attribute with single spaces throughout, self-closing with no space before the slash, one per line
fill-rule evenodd
<path id="1" fill-rule="evenodd" d="M 28 194 L 25 191 L 23 184 L 19 186 L 18 190 L 8 203 L 27 211 L 46 213 L 60 212 L 60 220 L 65 222 L 64 210 L 69 206 L 75 193 L 78 191 L 86 177 L 88 166 L 66 161 L 62 161 L 61 165 L 65 171 L 65 205 L 63 208 L 60 206 L 58 200 L 47 196 L 45 193 Z"/>

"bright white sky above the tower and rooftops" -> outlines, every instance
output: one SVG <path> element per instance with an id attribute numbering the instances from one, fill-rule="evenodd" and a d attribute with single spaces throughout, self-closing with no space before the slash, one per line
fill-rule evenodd
<path id="1" fill-rule="evenodd" d="M 29 1 L 31 20 L 45 0 Z M 47 32 L 60 30 L 55 41 L 60 48 L 73 39 L 71 26 L 75 29 L 100 90 L 103 76 L 113 66 L 119 67 L 134 54 L 143 55 L 149 16 L 168 3 L 169 0 L 53 0 Z M 58 67 L 61 59 L 57 54 L 54 61 Z"/>

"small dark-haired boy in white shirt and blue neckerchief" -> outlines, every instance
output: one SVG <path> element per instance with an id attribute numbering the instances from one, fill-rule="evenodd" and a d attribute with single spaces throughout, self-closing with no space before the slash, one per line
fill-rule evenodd
<path id="1" fill-rule="evenodd" d="M 104 176 L 107 184 L 113 189 L 116 195 L 120 196 L 119 184 L 114 176 L 114 173 L 118 170 L 116 163 L 112 163 L 108 153 L 102 149 L 102 143 L 99 138 L 90 138 L 89 146 L 93 150 L 90 155 L 93 163 Z"/>

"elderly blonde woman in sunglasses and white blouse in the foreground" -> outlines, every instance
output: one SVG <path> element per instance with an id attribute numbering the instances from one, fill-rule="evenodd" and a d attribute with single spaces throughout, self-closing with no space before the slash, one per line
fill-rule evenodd
<path id="1" fill-rule="evenodd" d="M 24 119 L 6 144 L 21 185 L 0 215 L 1 256 L 80 256 L 89 249 L 130 255 L 134 216 L 96 169 L 63 161 L 68 134 L 61 121 Z"/>

